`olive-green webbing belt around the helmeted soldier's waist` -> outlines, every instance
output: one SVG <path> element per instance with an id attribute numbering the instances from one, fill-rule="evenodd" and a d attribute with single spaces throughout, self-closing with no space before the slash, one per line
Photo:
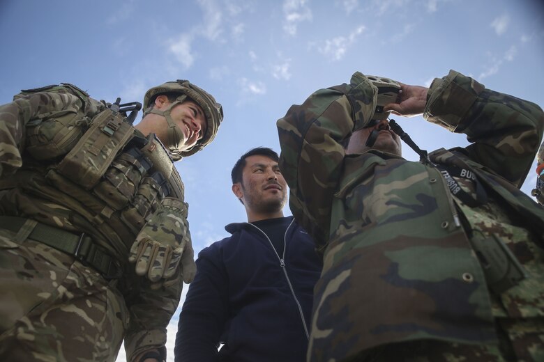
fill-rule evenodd
<path id="1" fill-rule="evenodd" d="M 19 233 L 23 227 L 29 225 L 27 221 L 29 219 L 24 217 L 0 216 L 0 228 Z M 115 259 L 103 251 L 100 246 L 97 246 L 89 235 L 85 233 L 76 235 L 37 221 L 33 221 L 31 225 L 32 230 L 28 233 L 28 239 L 36 240 L 54 249 L 73 255 L 77 260 L 96 269 L 106 279 L 119 278 L 121 276 L 121 267 L 117 265 Z"/>

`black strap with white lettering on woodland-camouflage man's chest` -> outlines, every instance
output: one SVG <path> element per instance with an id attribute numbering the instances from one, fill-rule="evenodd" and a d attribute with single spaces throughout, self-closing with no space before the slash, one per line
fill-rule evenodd
<path id="1" fill-rule="evenodd" d="M 478 181 L 476 174 L 471 171 L 471 169 L 452 165 L 446 166 L 444 164 L 437 164 L 435 167 L 440 171 L 442 176 L 444 176 L 451 194 L 461 200 L 465 205 L 468 205 L 469 207 L 478 207 L 488 201 L 488 194 L 485 192 L 481 182 Z M 464 191 L 455 178 L 464 178 L 473 182 L 476 198 L 471 196 L 467 191 Z"/>

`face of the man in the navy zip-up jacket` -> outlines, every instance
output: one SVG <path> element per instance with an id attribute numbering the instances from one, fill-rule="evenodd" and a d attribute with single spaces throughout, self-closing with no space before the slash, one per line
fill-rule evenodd
<path id="1" fill-rule="evenodd" d="M 282 209 L 287 203 L 287 182 L 278 162 L 269 157 L 247 157 L 242 182 L 233 184 L 232 191 L 242 200 L 249 221 L 283 216 Z"/>

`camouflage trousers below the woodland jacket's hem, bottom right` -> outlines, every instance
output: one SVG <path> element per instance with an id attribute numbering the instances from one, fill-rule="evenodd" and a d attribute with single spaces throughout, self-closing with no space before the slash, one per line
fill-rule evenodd
<path id="1" fill-rule="evenodd" d="M 393 343 L 342 362 L 539 362 L 544 361 L 544 317 L 495 319 L 498 345 L 461 345 L 439 340 Z"/>

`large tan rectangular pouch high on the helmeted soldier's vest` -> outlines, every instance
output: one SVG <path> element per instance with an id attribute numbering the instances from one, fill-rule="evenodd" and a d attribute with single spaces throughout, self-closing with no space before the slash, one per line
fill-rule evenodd
<path id="1" fill-rule="evenodd" d="M 125 117 L 111 109 L 98 113 L 57 171 L 84 189 L 92 189 L 133 136 L 134 128 L 124 120 Z"/>

